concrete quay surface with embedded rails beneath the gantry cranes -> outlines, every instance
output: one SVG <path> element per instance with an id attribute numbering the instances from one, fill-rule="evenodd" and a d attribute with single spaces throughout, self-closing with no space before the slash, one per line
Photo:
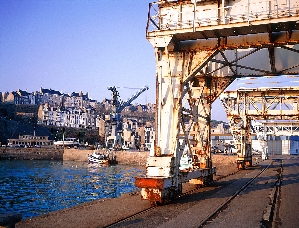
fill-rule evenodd
<path id="1" fill-rule="evenodd" d="M 185 193 L 194 191 L 151 210 L 148 210 L 151 207 L 148 201 L 140 200 L 141 192 L 137 190 L 117 198 L 103 198 L 27 218 L 17 223 L 16 227 L 198 227 L 207 215 L 231 197 L 248 179 L 274 162 L 205 224 L 207 227 L 267 227 L 267 219 L 271 221 L 269 210 L 274 204 L 273 191 L 281 161 L 284 165 L 283 177 L 274 224 L 275 227 L 297 227 L 299 156 L 281 155 L 271 155 L 266 161 L 254 160 L 251 167 L 237 173 L 234 173 L 237 171 L 235 165 L 218 169 L 215 179 L 234 174 L 200 189 L 194 190 L 193 184 L 184 183 Z M 140 212 L 143 213 L 138 214 Z M 132 215 L 135 217 L 129 218 Z M 119 221 L 122 222 L 112 225 Z"/>

